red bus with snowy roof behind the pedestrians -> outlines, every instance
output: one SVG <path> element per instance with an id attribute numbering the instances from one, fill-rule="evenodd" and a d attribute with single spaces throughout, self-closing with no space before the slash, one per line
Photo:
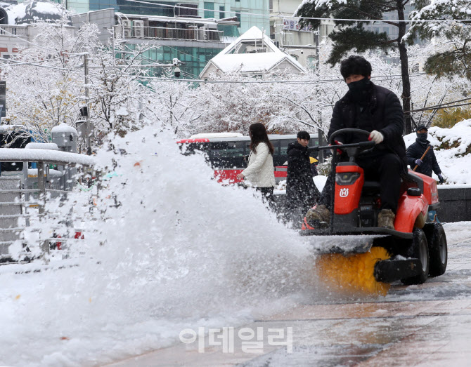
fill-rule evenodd
<path id="1" fill-rule="evenodd" d="M 319 145 L 318 134 L 310 133 L 309 147 Z M 273 166 L 275 166 L 275 179 L 280 182 L 286 179 L 288 144 L 296 142 L 296 135 L 269 135 L 275 147 Z M 247 167 L 247 158 L 250 154 L 250 138 L 240 133 L 207 133 L 192 135 L 189 139 L 177 141 L 183 154 L 193 154 L 195 150 L 205 152 L 207 163 L 214 169 L 214 177 L 218 182 L 228 180 L 228 183 L 240 182 L 236 176 Z M 318 152 L 309 152 L 318 159 Z"/>

